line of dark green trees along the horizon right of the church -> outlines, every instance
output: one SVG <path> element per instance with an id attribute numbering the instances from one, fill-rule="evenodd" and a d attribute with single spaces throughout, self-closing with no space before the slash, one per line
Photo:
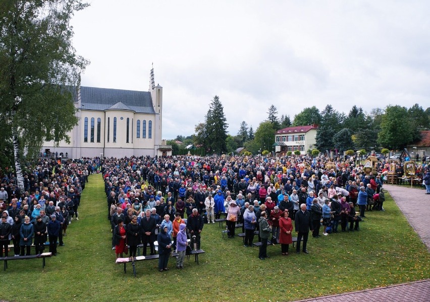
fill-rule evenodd
<path id="1" fill-rule="evenodd" d="M 317 124 L 316 148 L 319 150 L 397 150 L 419 140 L 421 130 L 430 129 L 430 107 L 424 110 L 418 104 L 410 108 L 389 105 L 384 109 L 374 108 L 369 113 L 353 105 L 348 114 L 330 104 L 321 111 L 312 106 L 295 115 L 293 121 L 288 114 L 279 116 L 275 105 L 271 105 L 266 113 L 267 118 L 258 124 L 255 131 L 252 125 L 242 121 L 237 134 L 231 135 L 227 132 L 224 107 L 220 98 L 215 96 L 204 122 L 195 125 L 195 134 L 187 137 L 178 135 L 176 140 L 183 141 L 184 145 L 194 144 L 207 154 L 236 153 L 239 147 L 257 154 L 273 150 L 277 130 Z"/>

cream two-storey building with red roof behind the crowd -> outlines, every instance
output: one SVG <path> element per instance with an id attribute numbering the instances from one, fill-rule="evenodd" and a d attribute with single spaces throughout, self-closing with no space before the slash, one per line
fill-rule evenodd
<path id="1" fill-rule="evenodd" d="M 316 124 L 288 127 L 275 132 L 275 153 L 299 150 L 305 155 L 307 150 L 315 147 Z"/>

